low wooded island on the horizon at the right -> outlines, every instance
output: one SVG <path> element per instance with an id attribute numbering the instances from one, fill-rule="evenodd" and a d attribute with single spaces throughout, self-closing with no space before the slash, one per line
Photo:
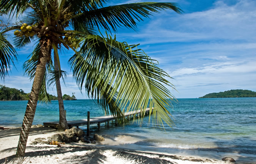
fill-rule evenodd
<path id="1" fill-rule="evenodd" d="M 234 89 L 219 93 L 209 93 L 199 98 L 232 98 L 232 97 L 256 97 L 256 92 L 251 90 Z"/>

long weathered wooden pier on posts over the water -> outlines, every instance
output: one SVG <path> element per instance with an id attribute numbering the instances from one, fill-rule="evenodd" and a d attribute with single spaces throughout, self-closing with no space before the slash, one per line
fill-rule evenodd
<path id="1" fill-rule="evenodd" d="M 149 111 L 150 111 L 150 109 L 146 108 L 145 111 L 137 110 L 137 111 L 132 111 L 132 112 L 125 112 L 124 116 L 128 117 L 128 120 L 129 120 L 131 117 L 134 117 L 134 116 L 139 117 L 139 116 L 143 115 L 143 113 L 145 113 L 145 116 L 146 116 L 146 115 L 149 114 Z M 111 116 L 111 115 L 90 118 L 90 112 L 88 112 L 87 119 L 67 121 L 67 122 L 68 122 L 69 128 L 87 125 L 87 130 L 89 130 L 91 124 L 97 124 L 98 125 L 98 130 L 100 130 L 101 123 L 107 123 L 107 127 L 109 127 L 109 121 L 112 121 L 112 120 L 115 120 L 115 123 L 116 123 L 116 126 L 117 126 L 116 118 Z M 59 125 L 59 121 L 47 122 L 47 123 L 43 123 L 43 124 L 44 124 L 44 126 L 49 126 L 49 127 L 55 127 L 56 128 Z"/>

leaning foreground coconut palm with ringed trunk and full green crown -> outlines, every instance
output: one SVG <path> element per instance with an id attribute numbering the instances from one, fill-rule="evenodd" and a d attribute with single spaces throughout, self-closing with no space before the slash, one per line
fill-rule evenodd
<path id="1" fill-rule="evenodd" d="M 25 154 L 38 97 L 47 96 L 47 81 L 57 82 L 60 90 L 58 80 L 64 72 L 60 68 L 58 54 L 64 48 L 72 49 L 75 53 L 69 64 L 80 89 L 84 86 L 88 96 L 97 100 L 105 112 L 110 112 L 121 121 L 121 109 L 124 107 L 130 111 L 145 110 L 148 106 L 152 110 L 154 106 L 153 117 L 157 123 L 165 121 L 171 126 L 170 113 L 166 109 L 171 104 L 171 93 L 166 86 L 173 85 L 165 79 L 170 76 L 158 67 L 157 61 L 138 49 L 138 45 L 119 42 L 107 31 L 116 32 L 120 26 L 135 29 L 137 22 L 152 12 L 172 9 L 180 13 L 181 10 L 175 3 L 130 3 L 105 7 L 105 2 L 2 0 L 0 3 L 1 10 L 8 9 L 16 16 L 22 13 L 27 15 L 23 24 L 6 30 L 16 30 L 16 46 L 23 47 L 31 41 L 38 43 L 24 65 L 34 81 L 16 156 Z M 100 29 L 106 31 L 105 37 L 98 32 Z M 60 115 L 64 115 L 64 111 Z"/>

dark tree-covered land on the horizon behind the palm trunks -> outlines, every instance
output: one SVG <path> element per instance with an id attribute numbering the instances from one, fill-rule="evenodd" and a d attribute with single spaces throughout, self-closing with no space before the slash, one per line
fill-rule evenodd
<path id="1" fill-rule="evenodd" d="M 4 85 L 0 85 L 0 100 L 28 100 L 30 97 L 30 93 L 25 93 L 24 90 L 22 89 L 16 89 L 16 88 L 9 88 Z M 58 97 L 50 95 L 49 94 L 50 100 L 58 100 Z M 72 96 L 70 95 L 63 95 L 63 100 L 77 100 L 75 98 L 74 93 L 72 93 Z M 40 100 L 40 97 L 39 97 Z"/>

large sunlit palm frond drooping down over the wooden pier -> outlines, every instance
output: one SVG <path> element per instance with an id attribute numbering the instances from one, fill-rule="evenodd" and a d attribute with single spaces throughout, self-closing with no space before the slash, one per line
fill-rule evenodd
<path id="1" fill-rule="evenodd" d="M 107 102 L 105 106 L 115 101 L 110 109 L 112 114 L 115 109 L 126 108 L 128 112 L 145 110 L 149 105 L 151 110 L 154 107 L 157 123 L 165 121 L 172 125 L 166 109 L 171 106 L 172 95 L 165 86 L 174 86 L 165 80 L 171 77 L 155 60 L 138 49 L 138 45 L 120 43 L 112 37 L 87 35 L 84 40 L 80 52 L 69 60 L 80 88 L 85 86 L 92 97 Z"/>

